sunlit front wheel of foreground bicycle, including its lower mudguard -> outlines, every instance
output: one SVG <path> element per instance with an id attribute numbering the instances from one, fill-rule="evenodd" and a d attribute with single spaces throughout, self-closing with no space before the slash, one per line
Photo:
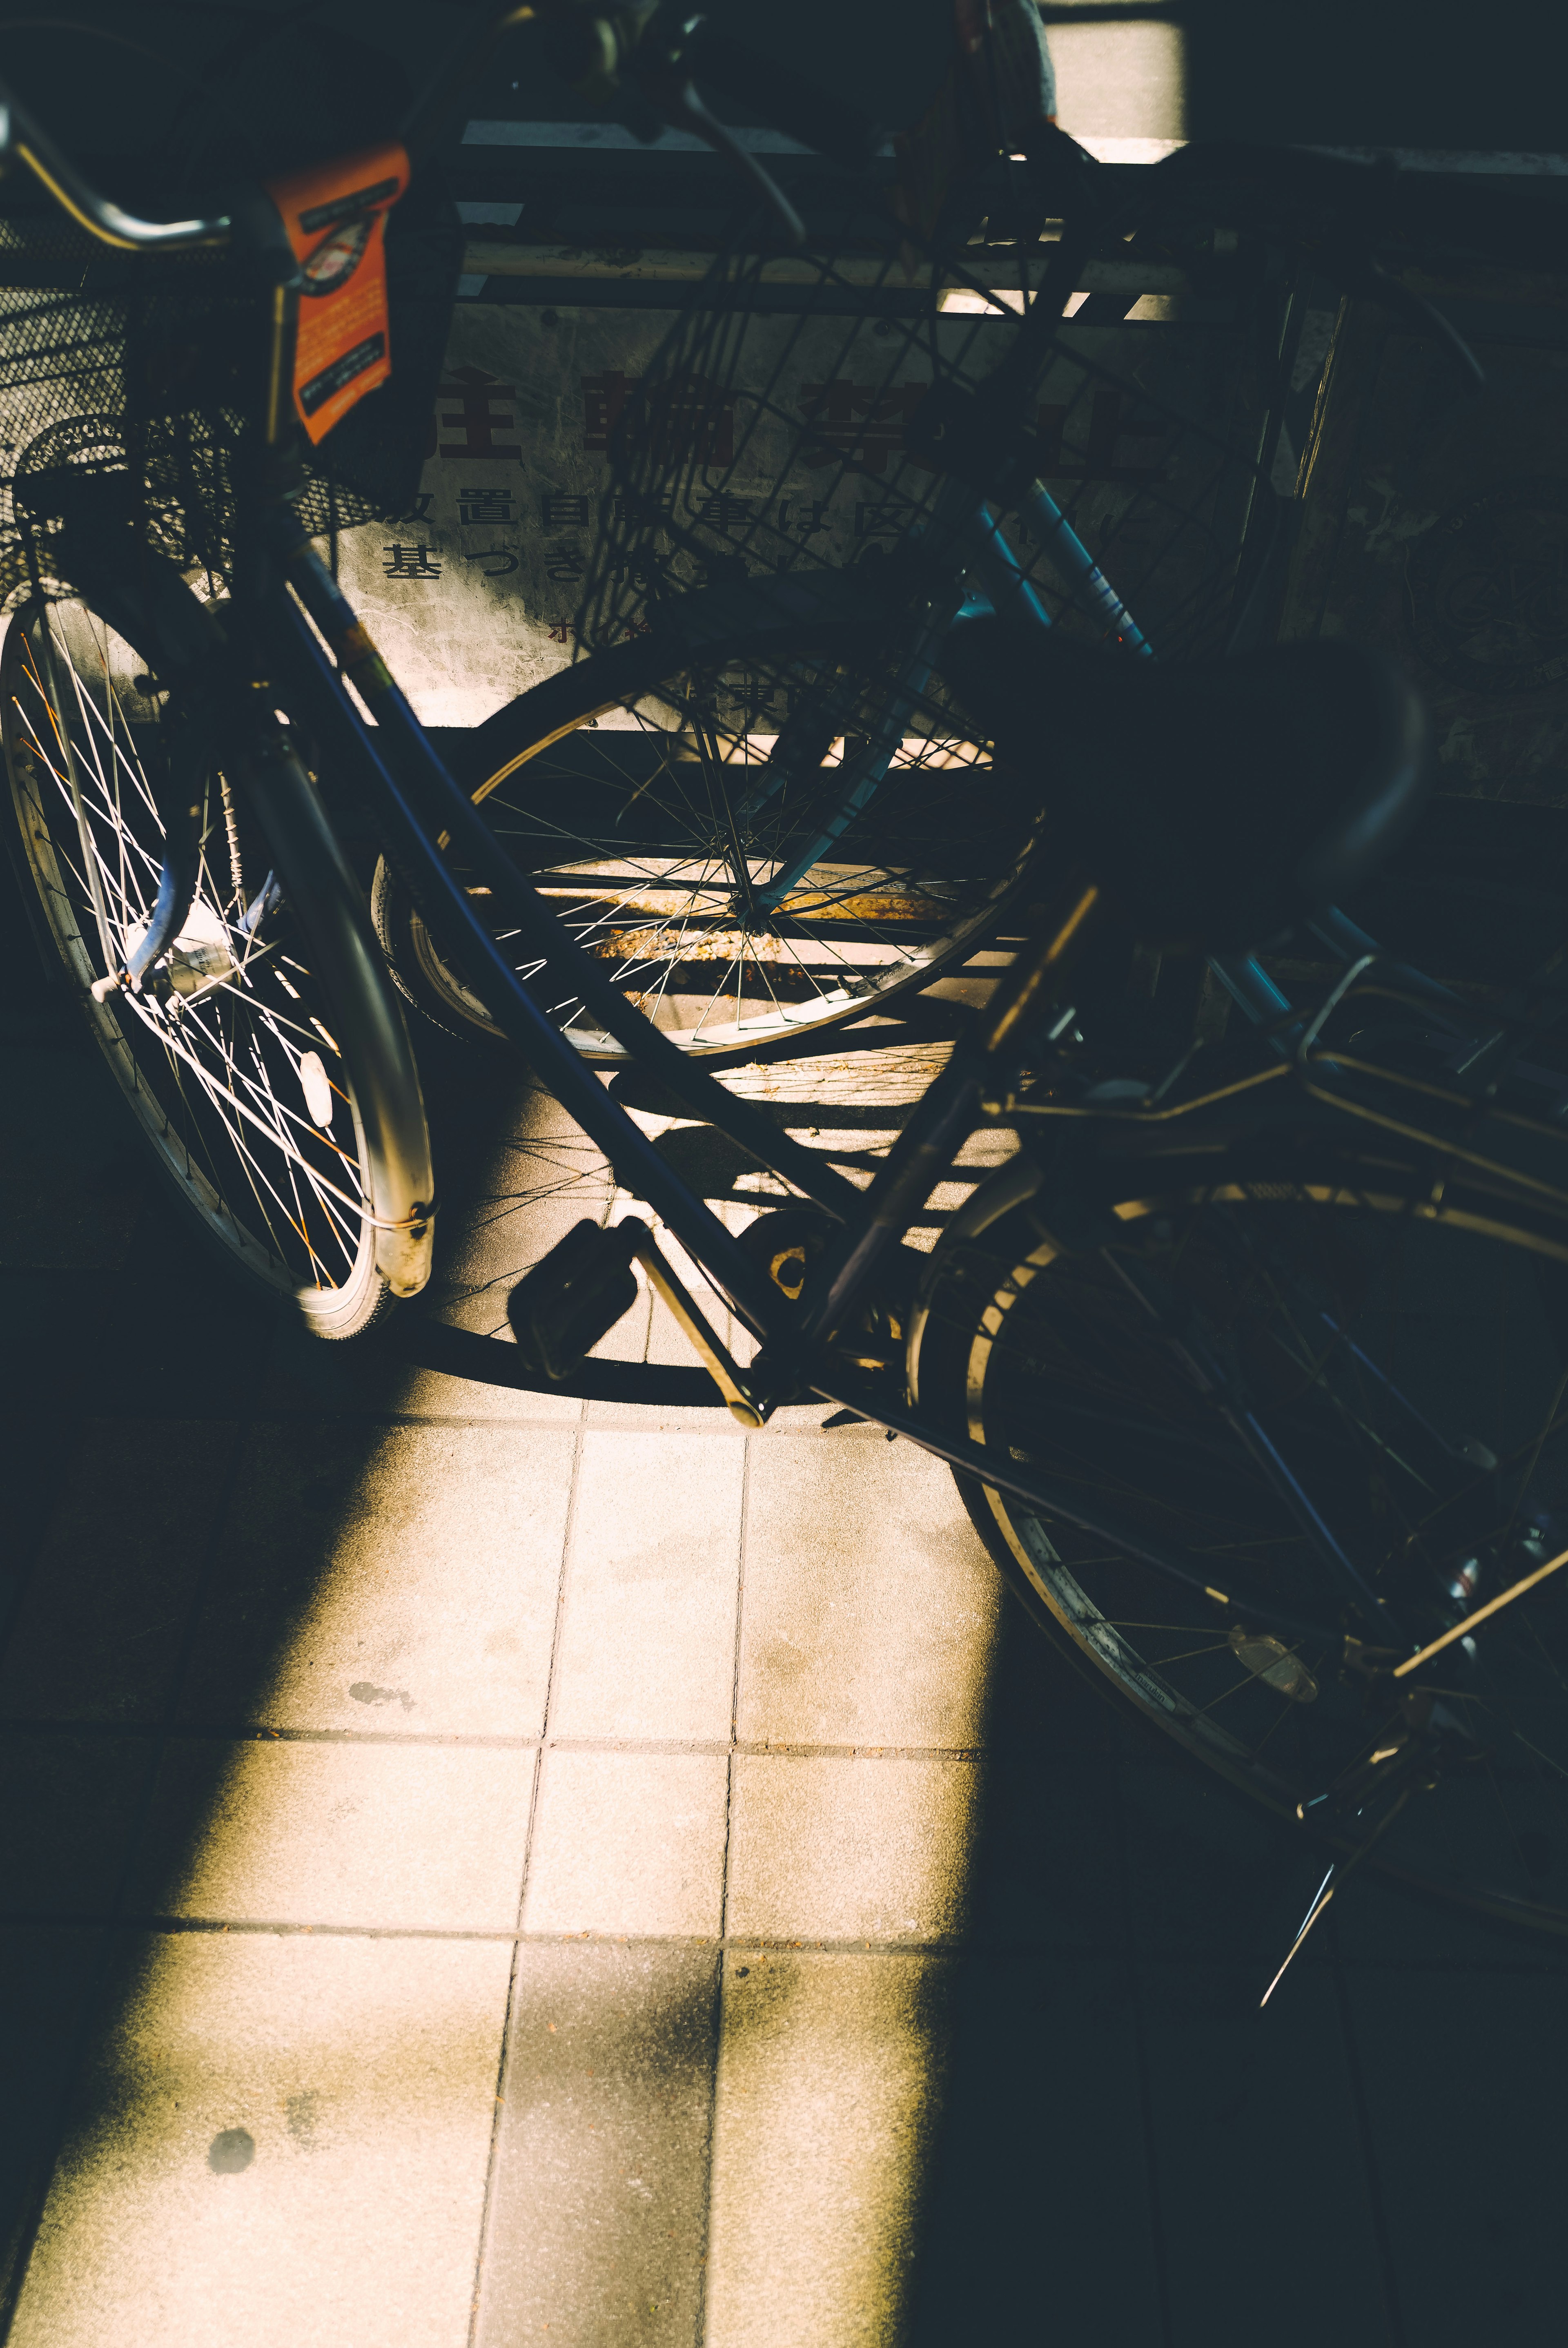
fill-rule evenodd
<path id="1" fill-rule="evenodd" d="M 138 989 L 94 993 L 153 920 L 167 697 L 87 603 L 35 601 L 0 700 L 23 885 L 162 1174 L 232 1268 L 317 1336 L 357 1336 L 427 1277 L 430 1146 L 397 996 L 354 979 L 376 946 L 310 782 L 272 761 L 310 866 L 291 902 L 284 843 L 235 777 L 200 775 L 190 911 Z"/>

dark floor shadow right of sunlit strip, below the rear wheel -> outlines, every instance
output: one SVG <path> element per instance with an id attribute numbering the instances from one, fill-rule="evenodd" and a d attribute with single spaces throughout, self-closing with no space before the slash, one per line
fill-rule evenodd
<path id="1" fill-rule="evenodd" d="M 1361 1881 L 1258 2012 L 1289 1824 L 1019 1608 L 993 1735 L 911 2343 L 1556 2341 L 1559 1944 Z"/>

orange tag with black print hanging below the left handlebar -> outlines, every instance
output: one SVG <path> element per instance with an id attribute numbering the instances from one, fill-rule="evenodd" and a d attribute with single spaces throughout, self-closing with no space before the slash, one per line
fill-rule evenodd
<path id="1" fill-rule="evenodd" d="M 392 373 L 387 211 L 408 185 L 399 146 L 268 183 L 300 263 L 293 404 L 312 444 Z"/>

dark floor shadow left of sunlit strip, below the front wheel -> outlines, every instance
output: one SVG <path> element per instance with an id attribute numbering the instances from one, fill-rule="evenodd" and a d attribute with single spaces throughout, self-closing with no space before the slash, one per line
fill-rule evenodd
<path id="1" fill-rule="evenodd" d="M 263 1691 L 383 1430 L 352 1392 L 364 1374 L 347 1357 L 343 1395 L 333 1402 L 329 1378 L 293 1411 L 307 1425 L 282 1449 L 331 1453 L 315 1522 L 305 1512 L 317 1538 L 300 1550 L 296 1526 L 293 1554 L 261 1576 L 228 1712 L 211 1738 L 192 1733 L 202 1606 L 244 1571 L 232 1503 L 242 1475 L 256 1484 L 258 1423 L 277 1416 L 282 1315 L 235 1284 L 164 1197 L 96 1050 L 40 974 L 5 859 L 0 1000 L 2 2334 L 61 2132 L 92 2127 L 110 2094 L 92 2050 L 136 1993 L 146 1918 L 167 1907 L 157 1871 L 174 1883 L 202 1841 L 232 1740 L 265 1735 L 254 1726 Z M 486 1092 L 451 1059 L 432 1061 L 430 1082 L 460 1209 L 493 1143 Z M 357 1423 L 333 1432 L 333 1409 L 354 1402 Z M 155 1808 L 169 1810 L 171 1763 L 188 1848 L 150 1831 Z"/>

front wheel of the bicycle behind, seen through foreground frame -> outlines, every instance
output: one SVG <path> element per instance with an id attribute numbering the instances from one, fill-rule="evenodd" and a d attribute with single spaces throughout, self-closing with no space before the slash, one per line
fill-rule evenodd
<path id="1" fill-rule="evenodd" d="M 852 580 L 824 592 L 866 608 Z M 852 728 L 885 695 L 885 636 L 864 618 L 826 634 L 777 618 L 744 629 L 742 603 L 685 596 L 657 636 L 523 693 L 477 730 L 465 775 L 570 935 L 692 1054 L 744 1054 L 925 986 L 995 930 L 1033 845 L 1028 796 L 932 714 L 850 805 Z M 763 761 L 812 695 L 840 735 L 779 777 Z M 791 878 L 770 902 L 779 873 Z M 387 864 L 371 909 L 430 1019 L 500 1033 Z M 627 1057 L 580 1000 L 552 1010 L 587 1059 Z"/>

